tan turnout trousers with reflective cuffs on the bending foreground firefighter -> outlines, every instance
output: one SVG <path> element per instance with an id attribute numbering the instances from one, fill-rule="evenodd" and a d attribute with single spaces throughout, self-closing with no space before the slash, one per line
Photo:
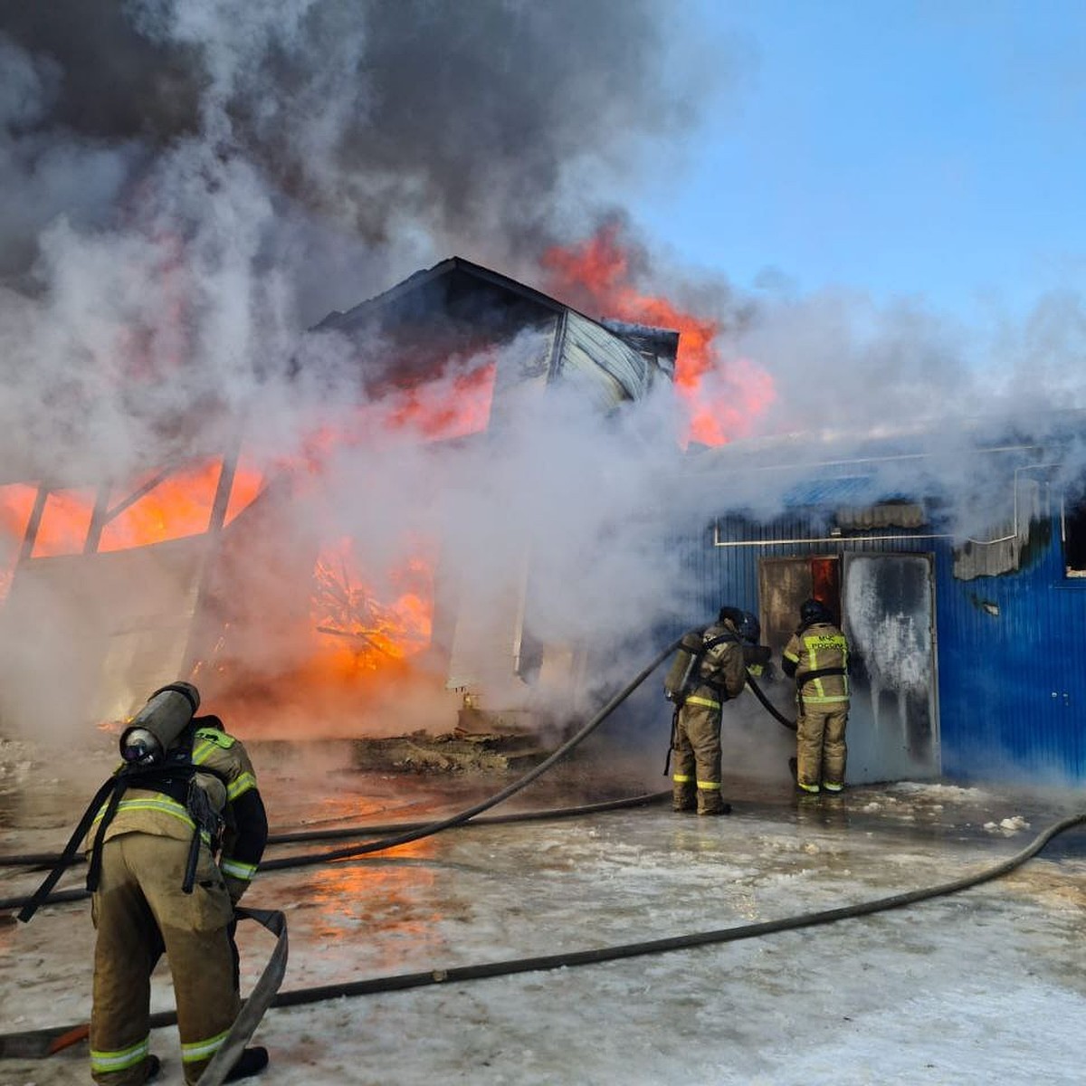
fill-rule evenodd
<path id="1" fill-rule="evenodd" d="M 163 950 L 186 1083 L 197 1082 L 241 1009 L 233 906 L 206 848 L 192 893 L 181 892 L 188 854 L 188 842 L 148 833 L 102 846 L 90 1015 L 91 1075 L 101 1086 L 140 1086 L 147 1076 L 151 972 Z"/>

